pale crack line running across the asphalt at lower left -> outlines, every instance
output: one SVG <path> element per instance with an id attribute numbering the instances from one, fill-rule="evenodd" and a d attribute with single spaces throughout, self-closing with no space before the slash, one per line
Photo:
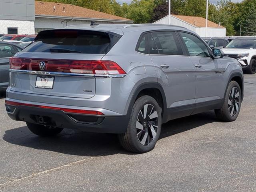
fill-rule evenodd
<path id="1" fill-rule="evenodd" d="M 51 168 L 51 169 L 48 169 L 48 170 L 40 171 L 40 172 L 38 172 L 38 173 L 32 173 L 31 175 L 28 175 L 28 176 L 25 176 L 25 177 L 22 177 L 22 178 L 11 178 L 11 179 L 8 180 L 7 182 L 5 182 L 5 183 L 3 183 L 3 184 L 0 184 L 0 187 L 1 187 L 1 186 L 6 186 L 7 184 L 12 184 L 12 183 L 15 183 L 15 182 L 24 180 L 24 179 L 32 178 L 32 177 L 35 177 L 35 176 L 38 176 L 38 175 L 47 174 L 47 173 L 49 173 L 49 172 L 53 172 L 53 171 L 56 171 L 56 170 L 60 170 L 60 169 L 62 169 L 62 168 L 70 167 L 70 166 L 75 165 L 75 164 L 83 163 L 83 162 L 86 162 L 86 161 L 88 161 L 88 160 L 92 160 L 92 159 L 94 159 L 94 158 L 100 157 L 100 156 L 102 156 L 102 154 L 96 155 L 96 156 L 94 156 L 94 157 L 84 158 L 84 159 L 82 159 L 82 160 L 78 160 L 78 161 L 75 161 L 75 162 L 70 162 L 70 163 L 68 163 L 68 164 L 64 164 L 64 165 L 62 165 L 62 166 L 58 166 L 58 167 Z"/>

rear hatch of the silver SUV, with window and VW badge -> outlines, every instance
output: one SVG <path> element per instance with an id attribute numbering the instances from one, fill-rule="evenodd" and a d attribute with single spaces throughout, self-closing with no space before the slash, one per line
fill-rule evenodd
<path id="1" fill-rule="evenodd" d="M 94 66 L 120 35 L 90 30 L 47 30 L 10 60 L 11 90 L 50 96 L 92 98 Z"/>

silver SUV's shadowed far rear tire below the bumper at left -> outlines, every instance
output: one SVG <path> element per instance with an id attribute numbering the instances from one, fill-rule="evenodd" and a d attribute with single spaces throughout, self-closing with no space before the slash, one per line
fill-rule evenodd
<path id="1" fill-rule="evenodd" d="M 28 129 L 41 137 L 52 137 L 56 136 L 58 133 L 60 133 L 63 128 L 60 127 L 52 127 L 52 126 L 44 126 L 44 125 L 39 125 L 39 124 L 34 124 L 34 123 L 28 123 L 26 122 Z"/>

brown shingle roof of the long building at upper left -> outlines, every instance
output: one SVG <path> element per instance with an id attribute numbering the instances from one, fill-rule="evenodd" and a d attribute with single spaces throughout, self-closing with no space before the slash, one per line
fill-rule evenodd
<path id="1" fill-rule="evenodd" d="M 55 10 L 54 10 L 54 6 L 55 6 Z M 65 6 L 65 11 L 63 11 L 63 6 Z M 99 11 L 94 11 L 91 9 L 87 9 L 84 7 L 79 7 L 71 4 L 42 2 L 42 1 L 35 1 L 35 14 L 74 17 L 74 18 L 97 18 L 97 19 L 131 21 L 130 19 L 122 18 L 119 16 L 111 15 L 111 14 L 106 14 Z"/>

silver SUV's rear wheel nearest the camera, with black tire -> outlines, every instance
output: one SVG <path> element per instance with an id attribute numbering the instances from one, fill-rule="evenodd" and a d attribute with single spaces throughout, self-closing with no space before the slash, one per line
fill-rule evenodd
<path id="1" fill-rule="evenodd" d="M 132 106 L 126 132 L 118 135 L 123 148 L 135 153 L 154 149 L 162 127 L 161 112 L 154 98 L 148 95 L 138 98 Z"/>

